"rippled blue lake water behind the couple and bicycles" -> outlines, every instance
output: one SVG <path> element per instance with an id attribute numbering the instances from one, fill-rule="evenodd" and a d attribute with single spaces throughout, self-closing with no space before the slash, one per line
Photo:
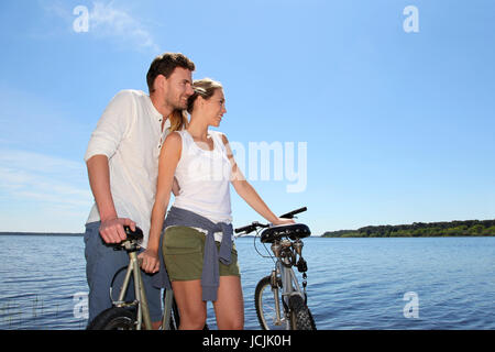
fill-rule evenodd
<path id="1" fill-rule="evenodd" d="M 254 288 L 273 262 L 253 238 L 237 246 L 245 328 L 260 329 Z M 0 235 L 0 329 L 86 327 L 81 237 Z M 495 238 L 309 238 L 304 256 L 318 329 L 495 329 Z"/>

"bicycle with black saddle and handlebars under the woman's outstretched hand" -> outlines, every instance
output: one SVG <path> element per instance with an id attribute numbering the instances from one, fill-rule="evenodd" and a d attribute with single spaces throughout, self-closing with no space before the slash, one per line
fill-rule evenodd
<path id="1" fill-rule="evenodd" d="M 306 210 L 307 208 L 304 207 L 287 212 L 280 218 L 293 219 L 295 215 Z M 260 233 L 258 229 L 265 230 Z M 254 305 L 262 329 L 316 330 L 315 320 L 307 306 L 306 272 L 308 266 L 302 257 L 304 243 L 301 241 L 301 239 L 311 234 L 309 228 L 304 223 L 273 226 L 254 221 L 249 226 L 235 229 L 235 233 L 244 232 L 244 234 L 249 234 L 253 231 L 256 231 L 254 241 L 260 238 L 264 245 L 271 243 L 273 255 L 266 249 L 266 245 L 265 249 L 272 260 L 276 258 L 274 260 L 275 268 L 271 275 L 263 277 L 257 283 L 254 293 Z M 258 254 L 261 253 L 258 252 Z M 296 260 L 297 256 L 298 260 Z M 302 273 L 302 290 L 293 266 L 296 266 Z M 280 314 L 280 301 L 283 315 Z"/>

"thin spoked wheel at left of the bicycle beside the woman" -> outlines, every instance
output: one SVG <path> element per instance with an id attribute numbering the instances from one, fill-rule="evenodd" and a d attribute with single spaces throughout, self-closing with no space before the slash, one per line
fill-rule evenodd
<path id="1" fill-rule="evenodd" d="M 275 295 L 272 289 L 271 276 L 263 277 L 256 285 L 254 292 L 254 306 L 256 307 L 257 320 L 263 330 L 284 330 L 286 328 L 286 319 L 284 311 L 280 311 L 280 320 L 277 321 L 275 310 Z M 276 299 L 280 302 L 279 290 L 276 290 Z"/>

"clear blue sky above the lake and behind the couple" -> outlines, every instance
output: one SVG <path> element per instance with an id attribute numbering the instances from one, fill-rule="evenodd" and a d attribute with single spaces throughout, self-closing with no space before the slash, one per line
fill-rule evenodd
<path id="1" fill-rule="evenodd" d="M 276 213 L 307 206 L 314 234 L 493 219 L 494 41 L 493 1 L 1 1 L 0 231 L 84 231 L 89 135 L 163 52 L 223 84 L 219 130 L 246 152 L 306 143 L 302 190 L 246 176 Z"/>

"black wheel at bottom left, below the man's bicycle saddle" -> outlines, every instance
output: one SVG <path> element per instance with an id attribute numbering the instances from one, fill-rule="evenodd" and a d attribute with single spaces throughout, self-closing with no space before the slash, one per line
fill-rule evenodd
<path id="1" fill-rule="evenodd" d="M 112 307 L 100 312 L 89 324 L 88 330 L 135 330 L 135 309 Z"/>

